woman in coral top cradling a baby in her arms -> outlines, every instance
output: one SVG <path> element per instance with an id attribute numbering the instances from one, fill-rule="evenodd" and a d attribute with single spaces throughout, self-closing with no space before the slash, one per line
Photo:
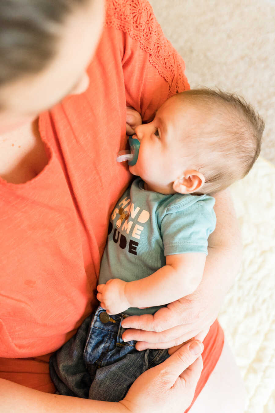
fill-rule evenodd
<path id="1" fill-rule="evenodd" d="M 145 0 L 108 0 L 106 10 L 103 0 L 5 0 L 0 19 L 1 411 L 17 404 L 22 412 L 123 411 L 54 395 L 47 363 L 97 305 L 108 219 L 131 179 L 115 161 L 126 146 L 126 116 L 130 131 L 139 113 L 146 122 L 167 97 L 188 89 L 184 64 Z M 139 340 L 137 349 L 172 354 L 194 336 L 204 339 L 211 325 L 191 412 L 242 411 L 240 379 L 214 322 L 240 263 L 226 191 L 216 195 L 215 212 L 195 293 L 169 304 L 167 320 L 129 317 L 124 333 Z M 201 368 L 197 358 L 181 375 L 180 392 L 177 377 L 195 358 L 180 367 L 174 360 L 187 358 L 188 345 L 136 380 L 131 406 L 186 410 Z"/>

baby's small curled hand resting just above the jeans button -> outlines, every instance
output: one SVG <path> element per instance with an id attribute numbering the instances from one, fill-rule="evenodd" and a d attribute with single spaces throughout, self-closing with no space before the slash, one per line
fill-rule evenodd
<path id="1" fill-rule="evenodd" d="M 109 315 L 122 313 L 131 307 L 131 304 L 125 296 L 125 286 L 127 282 L 119 278 L 108 280 L 106 284 L 97 286 L 96 298 L 100 301 L 100 305 L 106 310 Z"/>

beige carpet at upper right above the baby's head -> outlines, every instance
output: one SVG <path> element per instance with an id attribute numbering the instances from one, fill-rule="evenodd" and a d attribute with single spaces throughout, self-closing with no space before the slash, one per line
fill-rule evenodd
<path id="1" fill-rule="evenodd" d="M 266 121 L 261 156 L 275 164 L 275 0 L 149 0 L 186 63 L 191 88 L 242 95 Z"/>

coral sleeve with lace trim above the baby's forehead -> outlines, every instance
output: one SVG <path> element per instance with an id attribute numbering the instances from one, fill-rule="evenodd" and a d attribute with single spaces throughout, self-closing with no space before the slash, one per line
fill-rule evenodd
<path id="1" fill-rule="evenodd" d="M 106 24 L 120 31 L 127 106 L 150 121 L 165 100 L 190 89 L 184 61 L 146 0 L 108 1 Z"/>

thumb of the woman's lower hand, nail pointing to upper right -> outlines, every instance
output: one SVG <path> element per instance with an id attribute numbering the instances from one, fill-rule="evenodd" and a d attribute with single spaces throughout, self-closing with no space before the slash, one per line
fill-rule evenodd
<path id="1" fill-rule="evenodd" d="M 171 386 L 181 373 L 186 370 L 200 356 L 203 351 L 203 344 L 200 340 L 192 340 L 167 358 L 159 366 L 162 367 L 162 373 L 165 373 L 166 380 L 171 379 Z"/>

